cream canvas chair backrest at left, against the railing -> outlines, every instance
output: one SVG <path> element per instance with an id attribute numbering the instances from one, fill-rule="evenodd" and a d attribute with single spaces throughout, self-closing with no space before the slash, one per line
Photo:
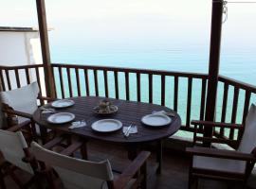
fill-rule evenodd
<path id="1" fill-rule="evenodd" d="M 37 110 L 37 96 L 39 87 L 37 82 L 11 90 L 1 92 L 2 102 L 9 105 L 13 110 L 32 114 Z"/>

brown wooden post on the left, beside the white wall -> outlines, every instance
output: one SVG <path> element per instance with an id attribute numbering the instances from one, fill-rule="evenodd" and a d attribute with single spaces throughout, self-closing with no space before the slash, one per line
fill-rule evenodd
<path id="1" fill-rule="evenodd" d="M 46 94 L 55 97 L 54 78 L 50 63 L 49 43 L 46 23 L 46 5 L 45 0 L 36 0 L 38 25 L 40 33 L 40 41 L 42 48 L 42 58 L 45 69 Z"/>

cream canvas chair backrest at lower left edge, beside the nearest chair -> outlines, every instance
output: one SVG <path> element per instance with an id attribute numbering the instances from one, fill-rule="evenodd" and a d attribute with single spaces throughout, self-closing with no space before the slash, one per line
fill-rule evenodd
<path id="1" fill-rule="evenodd" d="M 0 129 L 0 150 L 5 160 L 28 173 L 34 174 L 30 164 L 22 161 L 26 157 L 24 148 L 27 148 L 27 143 L 21 131 L 10 132 Z"/>

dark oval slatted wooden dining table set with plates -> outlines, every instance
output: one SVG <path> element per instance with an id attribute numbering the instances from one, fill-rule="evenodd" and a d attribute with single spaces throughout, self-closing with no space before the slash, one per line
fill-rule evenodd
<path id="1" fill-rule="evenodd" d="M 173 112 L 171 109 L 155 104 L 134 102 L 113 98 L 105 98 L 98 96 L 83 96 L 69 98 L 74 100 L 75 104 L 68 108 L 55 109 L 56 112 L 72 112 L 75 114 L 75 121 L 86 121 L 86 126 L 77 129 L 68 129 L 71 123 L 62 125 L 50 124 L 46 121 L 47 116 L 42 116 L 41 110 L 38 109 L 33 114 L 34 121 L 41 127 L 41 129 L 53 129 L 71 135 L 82 137 L 86 140 L 94 139 L 102 142 L 119 143 L 128 147 L 129 159 L 134 159 L 137 156 L 137 149 L 143 144 L 150 142 L 156 143 L 156 160 L 159 163 L 157 172 L 161 171 L 162 163 L 162 141 L 172 136 L 181 127 L 180 116 L 174 112 L 172 122 L 164 127 L 153 128 L 142 124 L 141 118 L 144 115 L 151 114 L 153 111 L 166 111 Z M 109 100 L 113 105 L 118 106 L 119 111 L 109 115 L 99 115 L 94 112 L 94 107 L 99 105 L 102 99 Z M 50 103 L 45 105 L 49 108 Z M 129 137 L 124 137 L 122 129 L 113 132 L 101 133 L 91 129 L 91 125 L 101 119 L 118 119 L 122 126 L 130 126 L 131 124 L 137 125 L 137 133 L 130 134 Z"/>

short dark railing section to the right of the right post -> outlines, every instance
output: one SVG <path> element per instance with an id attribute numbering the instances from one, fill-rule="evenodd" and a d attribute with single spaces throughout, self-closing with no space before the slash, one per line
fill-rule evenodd
<path id="1" fill-rule="evenodd" d="M 219 77 L 217 121 L 243 124 L 247 118 L 249 106 L 256 99 L 256 87 L 229 77 Z M 238 129 L 215 130 L 215 136 L 237 140 L 242 133 Z"/>

